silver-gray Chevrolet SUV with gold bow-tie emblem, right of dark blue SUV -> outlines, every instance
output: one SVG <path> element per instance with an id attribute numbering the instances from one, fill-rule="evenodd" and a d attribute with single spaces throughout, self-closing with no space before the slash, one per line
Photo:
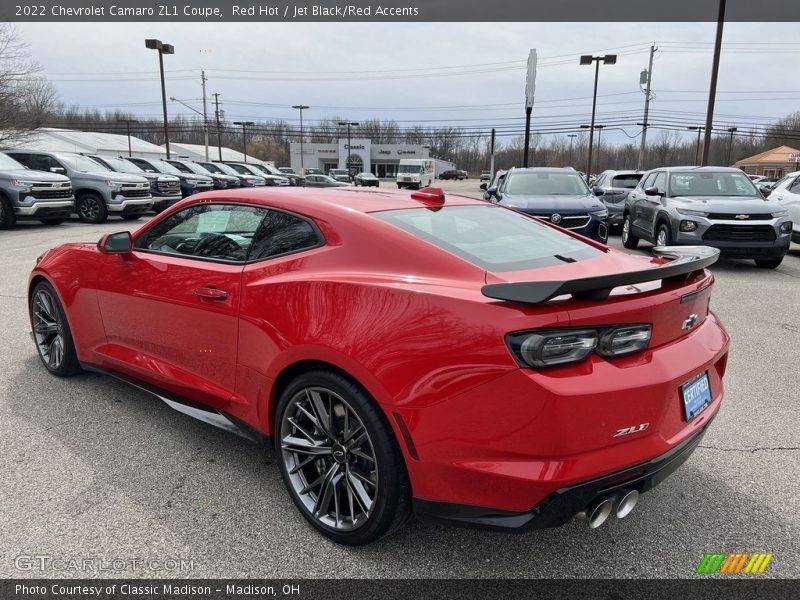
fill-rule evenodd
<path id="1" fill-rule="evenodd" d="M 706 245 L 774 269 L 789 250 L 789 211 L 740 169 L 669 167 L 647 172 L 625 201 L 622 243 Z"/>

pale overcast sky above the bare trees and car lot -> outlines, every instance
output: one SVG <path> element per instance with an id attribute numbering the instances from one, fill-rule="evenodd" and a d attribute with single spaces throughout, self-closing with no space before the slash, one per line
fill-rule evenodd
<path id="1" fill-rule="evenodd" d="M 601 66 L 598 123 L 635 136 L 649 46 L 653 120 L 704 122 L 713 23 L 23 23 L 36 60 L 66 104 L 160 115 L 156 54 L 144 38 L 175 46 L 167 95 L 201 108 L 200 69 L 228 119 L 306 123 L 340 115 L 503 131 L 522 127 L 525 60 L 539 55 L 534 129 L 588 123 L 593 68 L 581 53 L 616 52 Z M 800 110 L 797 23 L 728 23 L 716 113 L 725 126 L 766 123 Z M 491 63 L 491 64 L 490 64 Z M 81 81 L 70 81 L 81 80 Z M 88 80 L 88 81 L 86 81 Z M 118 80 L 118 81 L 117 81 Z M 171 103 L 171 113 L 192 115 Z M 211 110 L 211 109 L 210 109 Z M 689 138 L 692 134 L 686 132 Z M 607 130 L 604 139 L 625 140 Z"/>

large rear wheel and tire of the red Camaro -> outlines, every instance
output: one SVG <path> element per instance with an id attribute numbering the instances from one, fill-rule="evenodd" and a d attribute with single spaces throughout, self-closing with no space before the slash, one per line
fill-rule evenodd
<path id="1" fill-rule="evenodd" d="M 350 445 L 342 444 L 348 431 Z M 410 484 L 394 433 L 375 402 L 346 377 L 315 369 L 294 379 L 278 401 L 275 446 L 289 495 L 331 540 L 369 544 L 408 518 Z"/>

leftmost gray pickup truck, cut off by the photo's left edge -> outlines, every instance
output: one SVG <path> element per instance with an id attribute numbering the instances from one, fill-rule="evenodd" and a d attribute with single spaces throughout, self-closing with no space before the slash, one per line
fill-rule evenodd
<path id="1" fill-rule="evenodd" d="M 33 171 L 0 152 L 0 229 L 12 229 L 20 219 L 57 225 L 74 207 L 69 178 Z"/>

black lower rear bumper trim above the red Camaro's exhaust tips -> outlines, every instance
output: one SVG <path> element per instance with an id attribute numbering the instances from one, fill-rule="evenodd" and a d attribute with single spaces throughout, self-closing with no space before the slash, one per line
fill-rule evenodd
<path id="1" fill-rule="evenodd" d="M 703 439 L 713 416 L 706 420 L 699 432 L 668 452 L 633 467 L 563 487 L 530 510 L 514 512 L 414 498 L 414 513 L 421 518 L 492 529 L 525 531 L 558 527 L 598 498 L 620 497 L 629 490 L 636 490 L 641 494 L 653 489 L 691 456 Z"/>

